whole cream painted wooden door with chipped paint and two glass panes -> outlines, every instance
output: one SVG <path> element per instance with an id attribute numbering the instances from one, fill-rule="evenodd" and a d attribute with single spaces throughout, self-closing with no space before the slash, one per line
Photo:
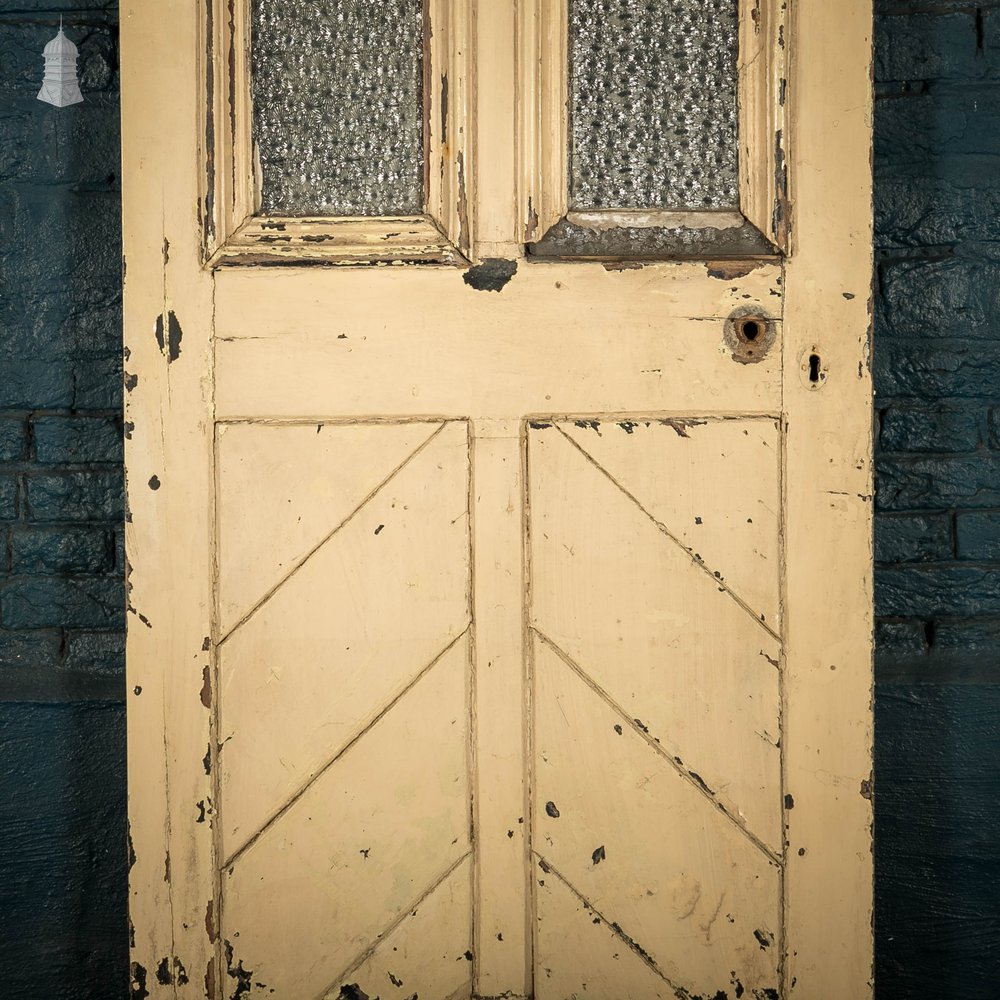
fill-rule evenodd
<path id="1" fill-rule="evenodd" d="M 123 5 L 132 996 L 870 995 L 870 15 Z"/>

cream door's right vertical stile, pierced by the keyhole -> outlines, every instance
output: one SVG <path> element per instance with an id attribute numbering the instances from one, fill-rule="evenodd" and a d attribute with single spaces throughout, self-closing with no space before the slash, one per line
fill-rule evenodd
<path id="1" fill-rule="evenodd" d="M 870 0 L 805 4 L 789 85 L 785 996 L 872 990 Z"/>

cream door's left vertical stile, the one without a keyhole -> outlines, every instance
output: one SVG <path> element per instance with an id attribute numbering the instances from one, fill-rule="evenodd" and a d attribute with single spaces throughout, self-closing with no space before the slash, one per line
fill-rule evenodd
<path id="1" fill-rule="evenodd" d="M 121 28 L 129 912 L 132 989 L 150 997 L 202 997 L 215 980 L 214 288 L 200 267 L 204 95 L 190 72 L 206 59 L 203 16 L 165 0 Z M 151 60 L 164 38 L 183 57 Z"/>

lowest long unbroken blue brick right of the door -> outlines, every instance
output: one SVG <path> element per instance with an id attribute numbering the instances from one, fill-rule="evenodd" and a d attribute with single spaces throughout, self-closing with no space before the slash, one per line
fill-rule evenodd
<path id="1" fill-rule="evenodd" d="M 887 618 L 1000 615 L 1000 567 L 882 567 L 875 611 Z"/>

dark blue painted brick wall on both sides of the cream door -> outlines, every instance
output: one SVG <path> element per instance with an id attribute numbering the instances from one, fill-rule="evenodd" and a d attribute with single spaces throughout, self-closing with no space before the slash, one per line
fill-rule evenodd
<path id="1" fill-rule="evenodd" d="M 877 994 L 997 1000 L 1000 0 L 877 6 Z M 0 991 L 120 1000 L 117 6 L 5 7 Z M 64 110 L 35 100 L 60 13 Z"/>

